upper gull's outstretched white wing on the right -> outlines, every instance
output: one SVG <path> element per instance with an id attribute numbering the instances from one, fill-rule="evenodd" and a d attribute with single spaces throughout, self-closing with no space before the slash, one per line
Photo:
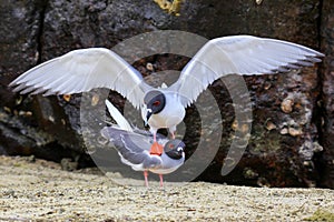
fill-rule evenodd
<path id="1" fill-rule="evenodd" d="M 288 71 L 320 62 L 324 54 L 306 47 L 252 36 L 224 37 L 208 41 L 184 68 L 169 89 L 184 107 L 216 79 L 227 74 L 264 74 Z"/>

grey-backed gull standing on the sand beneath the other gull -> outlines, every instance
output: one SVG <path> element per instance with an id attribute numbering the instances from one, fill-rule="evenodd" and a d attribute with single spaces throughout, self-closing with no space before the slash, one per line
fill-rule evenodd
<path id="1" fill-rule="evenodd" d="M 176 171 L 185 162 L 185 143 L 177 139 L 168 140 L 159 135 L 157 141 L 163 147 L 160 154 L 149 151 L 153 134 L 131 128 L 122 114 L 108 101 L 106 105 L 117 125 L 105 127 L 101 134 L 110 141 L 122 163 L 136 171 L 144 171 L 145 184 L 148 186 L 148 171 L 159 174 L 160 186 L 164 186 L 163 174 Z"/>

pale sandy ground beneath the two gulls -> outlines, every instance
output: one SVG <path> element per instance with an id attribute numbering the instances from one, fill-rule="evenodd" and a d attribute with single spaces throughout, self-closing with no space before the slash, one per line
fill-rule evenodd
<path id="1" fill-rule="evenodd" d="M 205 182 L 146 189 L 13 157 L 0 157 L 0 221 L 334 221 L 334 190 Z"/>

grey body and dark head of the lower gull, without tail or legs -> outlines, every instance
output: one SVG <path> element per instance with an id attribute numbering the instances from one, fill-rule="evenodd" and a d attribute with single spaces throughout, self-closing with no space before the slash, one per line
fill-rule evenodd
<path id="1" fill-rule="evenodd" d="M 167 140 L 158 137 L 157 142 L 164 145 L 161 155 L 150 154 L 153 135 L 129 132 L 116 127 L 105 127 L 101 133 L 117 149 L 121 162 L 136 171 L 151 171 L 166 174 L 177 170 L 185 161 L 185 144 L 180 140 Z M 169 145 L 173 144 L 173 149 Z M 170 153 L 175 154 L 170 157 Z"/>

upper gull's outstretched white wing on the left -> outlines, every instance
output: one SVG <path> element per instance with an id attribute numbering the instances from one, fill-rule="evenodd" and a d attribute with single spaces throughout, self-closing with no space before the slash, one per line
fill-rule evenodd
<path id="1" fill-rule="evenodd" d="M 46 61 L 10 83 L 21 93 L 71 94 L 109 88 L 139 108 L 150 89 L 141 74 L 115 52 L 104 48 L 70 51 Z"/>

